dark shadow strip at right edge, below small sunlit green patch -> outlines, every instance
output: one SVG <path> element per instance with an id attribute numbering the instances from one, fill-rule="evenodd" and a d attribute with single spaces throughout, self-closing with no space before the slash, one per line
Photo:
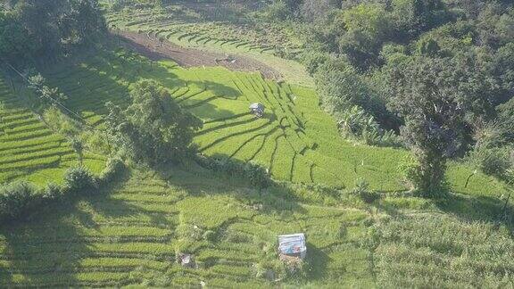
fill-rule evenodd
<path id="1" fill-rule="evenodd" d="M 448 199 L 437 202 L 437 207 L 442 211 L 456 215 L 460 219 L 505 226 L 509 228 L 511 235 L 514 236 L 514 207 L 512 202 L 506 204 L 505 200 L 492 196 L 451 194 Z"/>

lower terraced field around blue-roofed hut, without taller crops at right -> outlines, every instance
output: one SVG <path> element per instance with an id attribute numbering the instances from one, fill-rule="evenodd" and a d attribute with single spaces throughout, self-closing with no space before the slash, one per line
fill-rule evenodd
<path id="1" fill-rule="evenodd" d="M 256 191 L 197 173 L 136 174 L 109 194 L 3 227 L 0 286 L 270 286 L 266 270 L 280 272 L 276 235 L 296 231 L 309 236 L 311 282 L 372 284 L 359 245 L 365 211 L 280 198 L 255 206 Z M 194 254 L 198 268 L 181 267 L 178 252 Z"/>

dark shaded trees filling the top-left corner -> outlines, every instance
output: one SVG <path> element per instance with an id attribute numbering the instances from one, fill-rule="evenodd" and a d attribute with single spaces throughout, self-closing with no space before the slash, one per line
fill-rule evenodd
<path id="1" fill-rule="evenodd" d="M 10 62 L 70 54 L 105 31 L 97 0 L 0 1 L 0 57 Z"/>

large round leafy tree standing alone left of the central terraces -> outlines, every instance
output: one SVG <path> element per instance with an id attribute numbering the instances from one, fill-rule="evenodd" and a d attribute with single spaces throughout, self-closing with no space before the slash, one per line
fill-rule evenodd
<path id="1" fill-rule="evenodd" d="M 132 104 L 125 111 L 107 103 L 107 124 L 115 143 L 135 161 L 181 161 L 202 121 L 182 110 L 153 80 L 137 82 L 130 96 Z"/>

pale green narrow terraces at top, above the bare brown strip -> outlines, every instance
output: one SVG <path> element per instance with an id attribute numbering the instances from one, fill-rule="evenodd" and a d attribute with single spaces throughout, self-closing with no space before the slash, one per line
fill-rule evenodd
<path id="1" fill-rule="evenodd" d="M 205 21 L 176 9 L 170 6 L 159 12 L 108 12 L 105 17 L 114 31 L 137 31 L 183 47 L 243 54 L 278 70 L 290 83 L 314 86 L 312 78 L 300 63 L 278 57 L 287 54 L 288 58 L 294 58 L 302 51 L 301 44 L 282 29 L 266 27 L 255 30 L 227 21 Z"/>

